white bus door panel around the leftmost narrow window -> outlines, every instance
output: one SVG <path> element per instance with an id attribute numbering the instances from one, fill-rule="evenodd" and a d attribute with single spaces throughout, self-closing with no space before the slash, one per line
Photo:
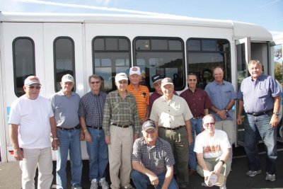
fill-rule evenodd
<path id="1" fill-rule="evenodd" d="M 2 110 L 1 158 L 3 162 L 15 161 L 9 138 L 8 116 L 11 103 L 22 96 L 23 82 L 30 75 L 36 75 L 45 83 L 43 40 L 41 23 L 1 23 L 1 82 Z M 36 64 L 35 64 L 36 62 Z M 45 88 L 40 90 L 45 94 Z M 2 146 L 2 144 L 4 144 Z"/>

